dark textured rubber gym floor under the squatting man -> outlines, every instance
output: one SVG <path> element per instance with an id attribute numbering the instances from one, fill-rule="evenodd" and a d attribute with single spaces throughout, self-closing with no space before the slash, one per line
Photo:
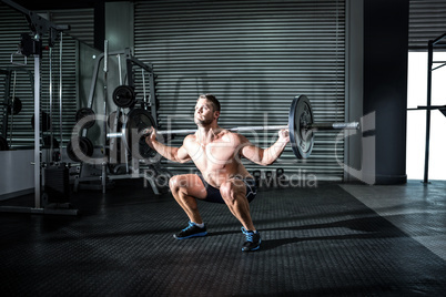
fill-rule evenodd
<path id="1" fill-rule="evenodd" d="M 2 202 L 27 205 L 32 197 Z M 242 253 L 224 205 L 200 202 L 209 236 L 140 180 L 80 191 L 78 216 L 0 214 L 7 296 L 444 296 L 446 182 L 261 188 L 261 250 Z"/>

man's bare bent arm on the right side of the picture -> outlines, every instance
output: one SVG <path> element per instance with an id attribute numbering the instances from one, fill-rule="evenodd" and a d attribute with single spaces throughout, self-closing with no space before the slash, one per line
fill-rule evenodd
<path id="1" fill-rule="evenodd" d="M 290 134 L 287 130 L 278 131 L 278 140 L 267 148 L 257 147 L 246 139 L 244 140 L 245 144 L 242 144 L 242 155 L 256 164 L 266 166 L 273 164 L 281 156 L 286 144 L 290 142 Z"/>

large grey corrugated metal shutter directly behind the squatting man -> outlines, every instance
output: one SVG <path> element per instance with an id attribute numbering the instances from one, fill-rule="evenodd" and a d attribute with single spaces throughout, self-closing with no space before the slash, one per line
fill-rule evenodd
<path id="1" fill-rule="evenodd" d="M 296 94 L 308 96 L 318 122 L 344 121 L 344 0 L 136 1 L 134 34 L 135 55 L 158 75 L 162 129 L 170 121 L 172 129 L 194 129 L 196 98 L 207 92 L 222 102 L 221 126 L 287 124 Z M 246 161 L 246 167 L 342 180 L 336 134 L 317 133 L 306 161 L 288 146 L 273 166 Z M 263 147 L 276 140 L 276 132 L 245 135 Z"/>

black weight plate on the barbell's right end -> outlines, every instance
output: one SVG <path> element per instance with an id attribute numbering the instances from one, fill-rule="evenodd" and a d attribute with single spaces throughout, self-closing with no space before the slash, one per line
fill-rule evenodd
<path id="1" fill-rule="evenodd" d="M 305 95 L 294 98 L 288 114 L 290 143 L 297 158 L 307 158 L 313 150 L 314 133 L 306 126 L 314 122 L 310 100 Z"/>

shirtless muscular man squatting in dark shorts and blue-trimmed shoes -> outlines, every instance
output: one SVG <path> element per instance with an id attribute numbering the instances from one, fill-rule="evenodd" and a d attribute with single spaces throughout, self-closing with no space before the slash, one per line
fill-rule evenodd
<path id="1" fill-rule="evenodd" d="M 242 250 L 260 248 L 261 236 L 250 214 L 250 202 L 255 197 L 254 178 L 243 166 L 241 157 L 260 165 L 270 165 L 278 158 L 290 142 L 288 131 L 281 130 L 278 140 L 268 148 L 252 144 L 246 137 L 219 126 L 220 102 L 211 94 L 196 101 L 194 122 L 197 130 L 187 135 L 181 147 L 166 146 L 156 141 L 156 131 L 145 137 L 146 143 L 162 156 L 184 163 L 193 161 L 201 174 L 175 175 L 169 186 L 173 197 L 189 216 L 189 226 L 175 234 L 176 239 L 205 236 L 206 227 L 196 199 L 226 204 L 242 224 L 246 236 Z"/>

